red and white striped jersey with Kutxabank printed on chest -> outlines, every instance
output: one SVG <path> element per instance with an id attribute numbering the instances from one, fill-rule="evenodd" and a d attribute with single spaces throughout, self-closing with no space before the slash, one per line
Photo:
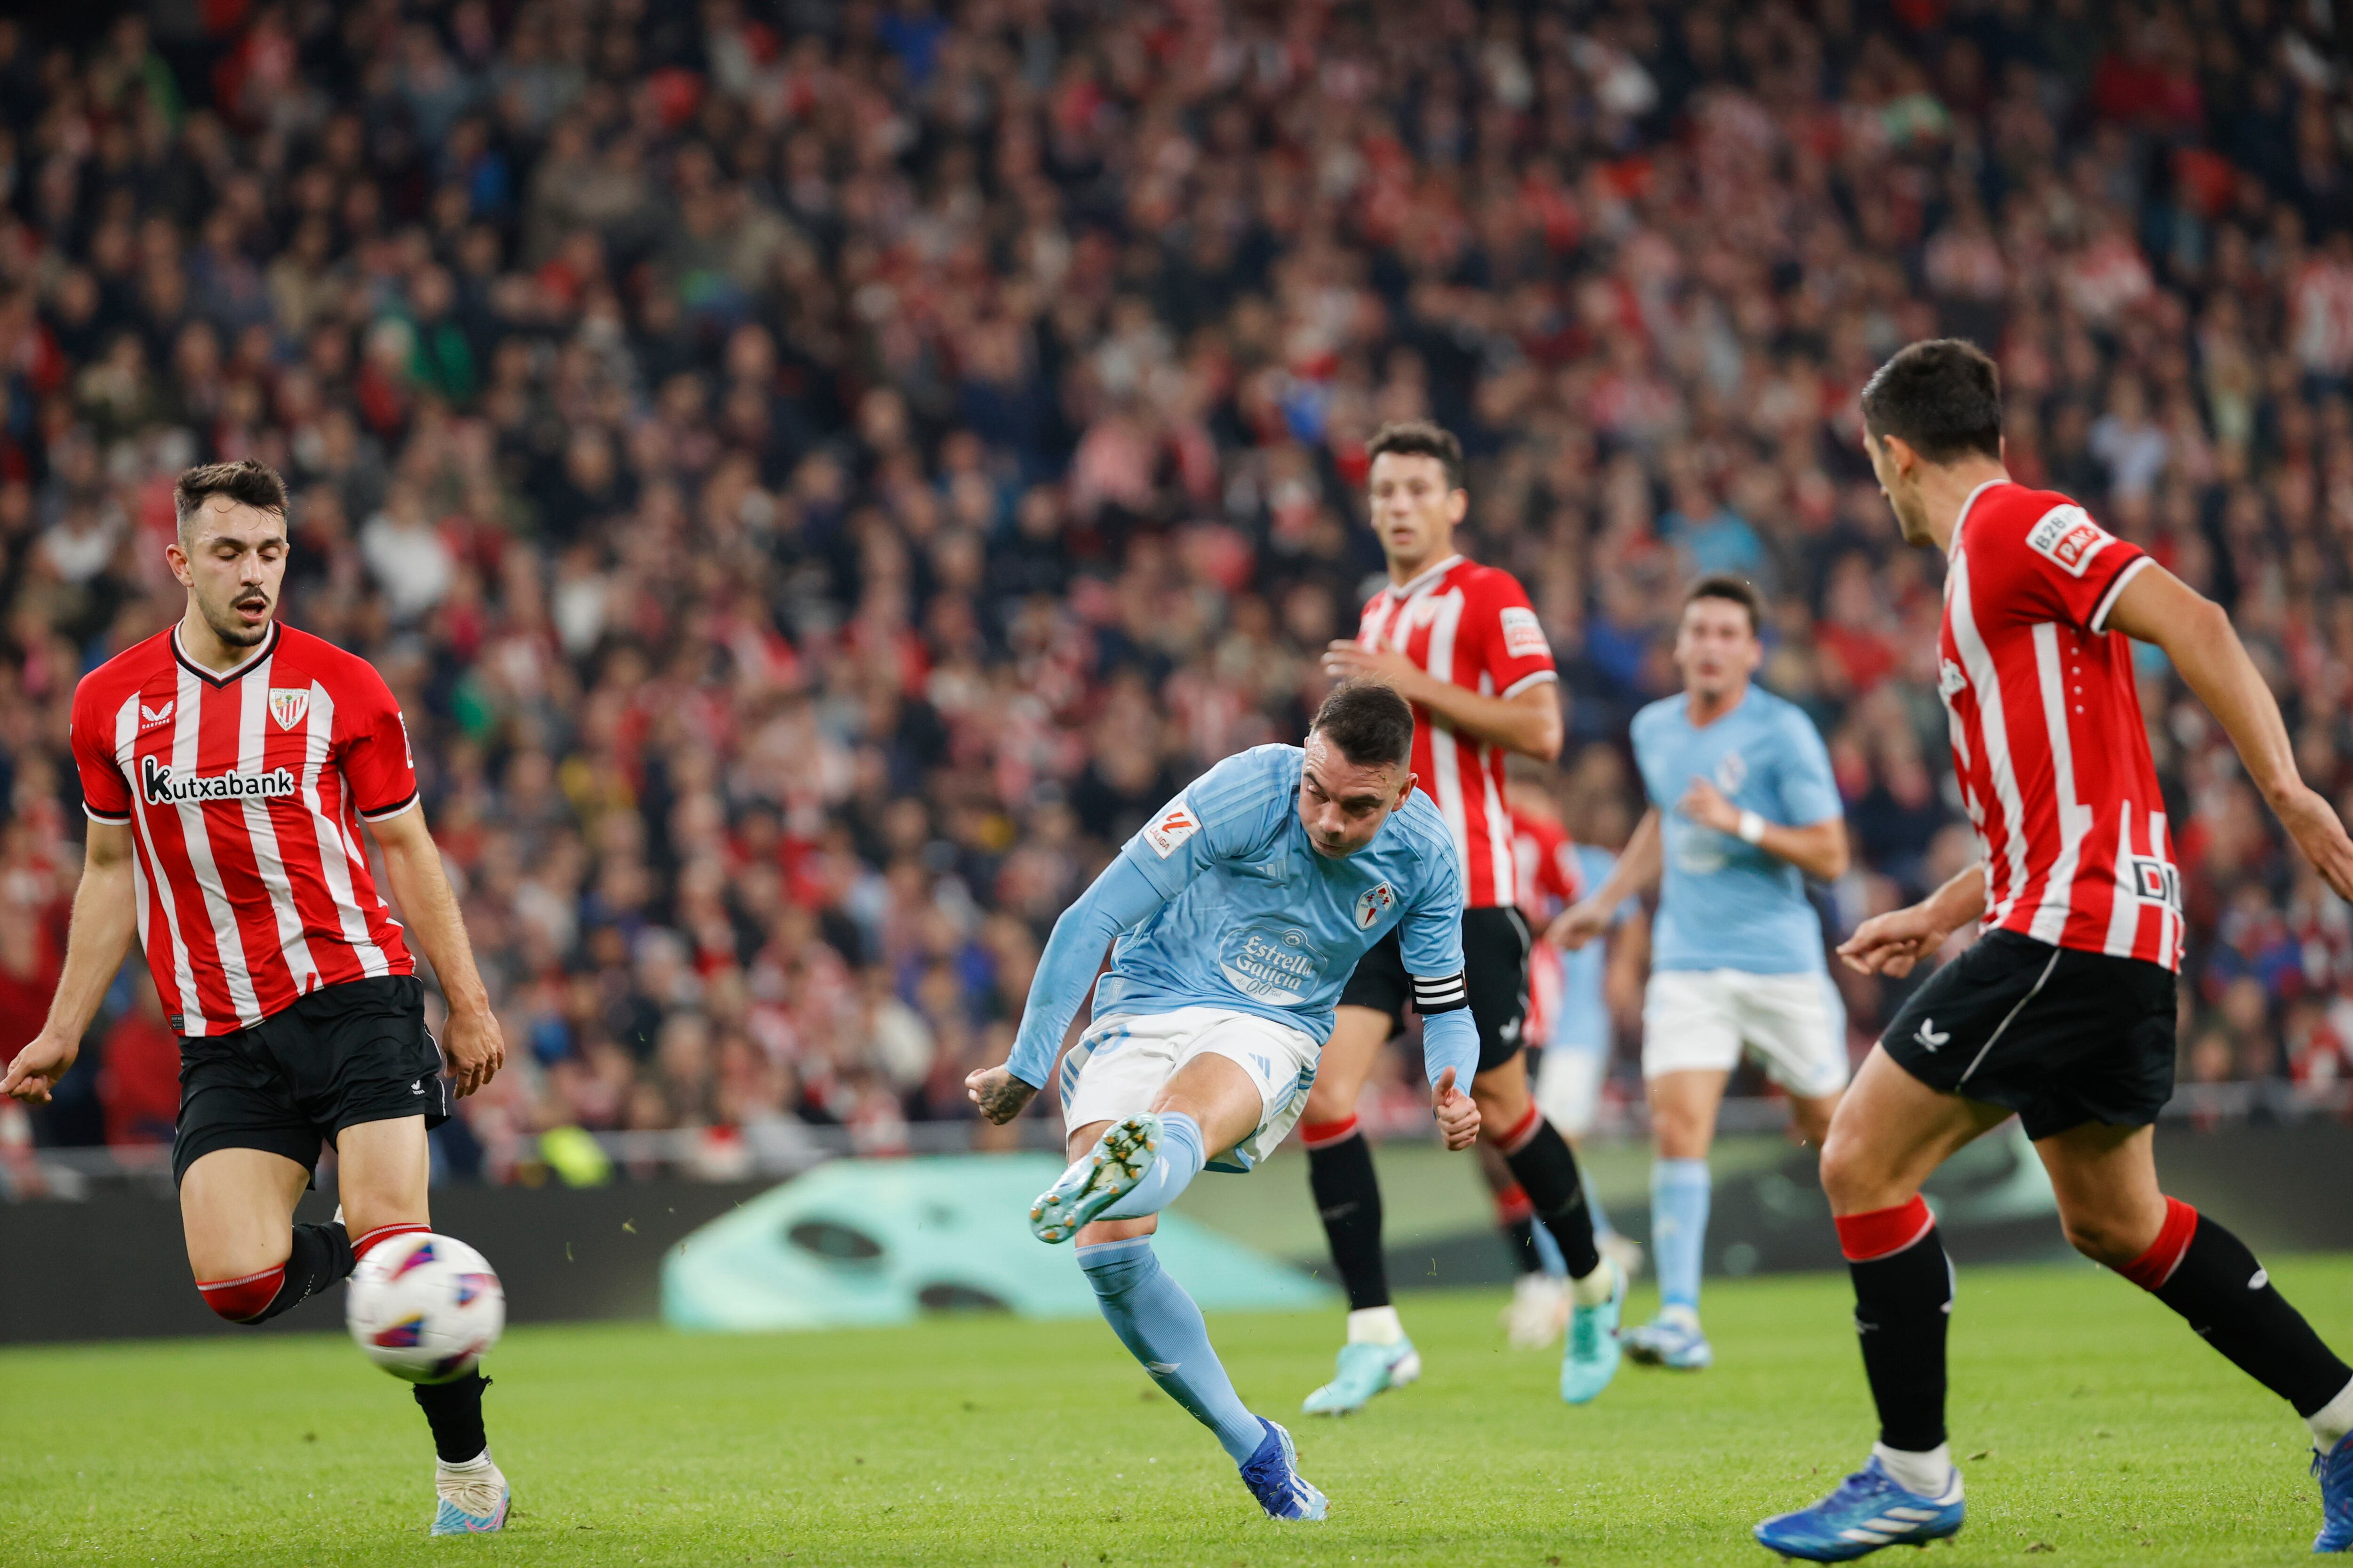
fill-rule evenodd
<path id="1" fill-rule="evenodd" d="M 271 625 L 214 675 L 179 628 L 73 691 L 92 820 L 129 823 L 139 940 L 181 1034 L 231 1034 L 296 997 L 414 971 L 360 820 L 416 802 L 400 705 L 374 665 Z"/>

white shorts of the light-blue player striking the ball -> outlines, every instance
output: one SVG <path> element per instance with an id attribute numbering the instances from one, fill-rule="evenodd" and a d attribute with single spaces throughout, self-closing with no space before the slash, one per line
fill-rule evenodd
<path id="1" fill-rule="evenodd" d="M 1200 1053 L 1224 1056 L 1259 1086 L 1259 1126 L 1233 1150 L 1212 1150 L 1212 1171 L 1249 1171 L 1308 1107 L 1322 1046 L 1306 1030 L 1221 1006 L 1096 1018 L 1061 1058 L 1061 1124 L 1118 1121 L 1151 1110 Z"/>

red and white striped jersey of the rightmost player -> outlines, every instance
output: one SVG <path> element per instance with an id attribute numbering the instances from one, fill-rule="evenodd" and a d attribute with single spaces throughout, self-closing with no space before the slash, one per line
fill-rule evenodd
<path id="1" fill-rule="evenodd" d="M 2054 491 L 1969 491 L 1939 679 L 1986 858 L 1986 929 L 2181 966 L 2181 875 L 2132 642 L 2108 611 L 2148 557 Z"/>

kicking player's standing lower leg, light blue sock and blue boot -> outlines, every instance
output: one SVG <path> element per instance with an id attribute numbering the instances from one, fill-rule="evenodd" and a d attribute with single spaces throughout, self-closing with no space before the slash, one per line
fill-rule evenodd
<path id="1" fill-rule="evenodd" d="M 1153 1239 L 1080 1246 L 1078 1267 L 1087 1272 L 1104 1321 L 1120 1335 L 1120 1345 L 1169 1399 L 1217 1434 L 1259 1507 L 1271 1519 L 1322 1519 L 1325 1495 L 1299 1476 L 1289 1434 L 1242 1406 L 1209 1347 L 1200 1307 L 1160 1267 Z"/>

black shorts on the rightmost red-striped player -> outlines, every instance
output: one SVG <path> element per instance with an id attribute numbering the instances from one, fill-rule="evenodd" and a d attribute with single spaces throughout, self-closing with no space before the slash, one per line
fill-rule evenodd
<path id="1" fill-rule="evenodd" d="M 1911 994 L 1880 1048 L 1929 1088 L 2019 1112 L 2028 1138 L 2148 1126 L 2174 1095 L 2174 973 L 1988 931 Z"/>

